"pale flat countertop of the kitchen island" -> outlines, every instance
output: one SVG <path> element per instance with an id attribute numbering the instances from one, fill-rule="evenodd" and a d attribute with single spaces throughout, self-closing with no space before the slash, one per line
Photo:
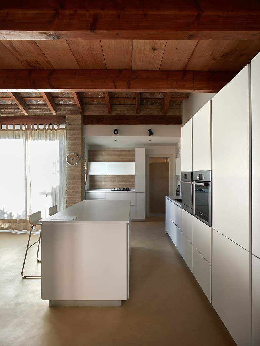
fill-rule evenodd
<path id="1" fill-rule="evenodd" d="M 76 216 L 74 220 L 53 220 L 60 216 Z M 85 200 L 43 219 L 43 223 L 127 224 L 130 220 L 130 201 Z"/>

